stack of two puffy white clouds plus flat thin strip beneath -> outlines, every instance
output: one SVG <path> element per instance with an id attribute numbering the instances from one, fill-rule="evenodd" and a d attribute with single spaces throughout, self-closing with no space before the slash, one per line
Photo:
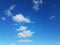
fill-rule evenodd
<path id="1" fill-rule="evenodd" d="M 19 32 L 17 34 L 17 38 L 20 38 L 21 40 L 17 40 L 17 42 L 32 42 L 32 40 L 29 40 L 29 37 L 32 37 L 34 32 L 31 30 L 28 30 L 28 27 L 26 26 L 20 26 L 17 31 Z"/>

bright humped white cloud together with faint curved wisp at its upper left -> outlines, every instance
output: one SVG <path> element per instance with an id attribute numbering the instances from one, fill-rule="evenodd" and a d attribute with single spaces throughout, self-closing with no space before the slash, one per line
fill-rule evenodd
<path id="1" fill-rule="evenodd" d="M 23 14 L 16 14 L 13 16 L 12 10 L 15 8 L 16 5 L 11 5 L 8 9 L 5 10 L 5 14 L 7 16 L 11 16 L 13 21 L 16 21 L 18 23 L 31 23 L 30 19 L 23 16 Z"/>

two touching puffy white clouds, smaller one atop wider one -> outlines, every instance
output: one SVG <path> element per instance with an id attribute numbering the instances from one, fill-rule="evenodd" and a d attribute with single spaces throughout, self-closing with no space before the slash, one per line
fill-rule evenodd
<path id="1" fill-rule="evenodd" d="M 17 31 L 19 31 L 19 33 L 17 34 L 18 38 L 28 38 L 31 37 L 33 35 L 34 32 L 32 32 L 31 30 L 27 29 L 28 27 L 26 26 L 20 26 Z"/>

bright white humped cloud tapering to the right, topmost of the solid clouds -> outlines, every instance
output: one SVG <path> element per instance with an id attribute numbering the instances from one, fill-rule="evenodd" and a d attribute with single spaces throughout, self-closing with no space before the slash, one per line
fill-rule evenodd
<path id="1" fill-rule="evenodd" d="M 14 21 L 21 23 L 21 22 L 25 22 L 25 23 L 30 23 L 30 19 L 24 17 L 22 14 L 17 14 L 16 16 L 12 17 Z"/>

